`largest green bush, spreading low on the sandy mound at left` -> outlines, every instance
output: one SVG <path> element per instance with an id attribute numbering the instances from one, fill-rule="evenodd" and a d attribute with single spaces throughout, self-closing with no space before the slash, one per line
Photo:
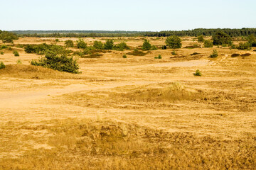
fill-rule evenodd
<path id="1" fill-rule="evenodd" d="M 56 69 L 60 72 L 79 73 L 77 60 L 74 60 L 73 57 L 68 57 L 65 53 L 59 54 L 57 52 L 47 51 L 45 57 L 41 57 L 38 61 L 32 60 L 31 64 Z"/>

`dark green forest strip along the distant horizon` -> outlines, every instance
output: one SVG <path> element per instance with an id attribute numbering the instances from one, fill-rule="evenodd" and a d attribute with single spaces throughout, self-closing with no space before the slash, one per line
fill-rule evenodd
<path id="1" fill-rule="evenodd" d="M 199 35 L 213 36 L 215 33 L 224 32 L 230 37 L 249 36 L 256 35 L 256 28 L 241 28 L 241 29 L 205 29 L 198 28 L 194 30 L 165 30 L 160 32 L 142 32 L 142 31 L 122 31 L 122 30 L 13 30 L 12 33 L 16 33 L 21 37 L 134 37 L 134 36 L 146 36 L 146 37 L 169 37 L 177 35 L 180 37 L 191 36 L 196 37 Z"/>

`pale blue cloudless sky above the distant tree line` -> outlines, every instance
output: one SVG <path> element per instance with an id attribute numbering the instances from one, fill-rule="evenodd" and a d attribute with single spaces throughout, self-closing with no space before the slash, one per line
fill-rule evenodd
<path id="1" fill-rule="evenodd" d="M 255 0 L 0 0 L 0 30 L 256 28 Z"/>

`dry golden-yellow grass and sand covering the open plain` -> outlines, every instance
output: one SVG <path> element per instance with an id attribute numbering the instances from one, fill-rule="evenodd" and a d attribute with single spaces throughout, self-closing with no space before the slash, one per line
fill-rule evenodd
<path id="1" fill-rule="evenodd" d="M 82 74 L 68 74 L 29 65 L 38 55 L 17 47 L 70 40 L 58 39 L 14 40 L 22 64 L 2 50 L 0 169 L 255 169 L 255 49 L 135 56 L 129 52 L 143 38 L 116 38 L 131 50 L 80 58 Z M 196 69 L 202 77 L 193 76 Z"/>

